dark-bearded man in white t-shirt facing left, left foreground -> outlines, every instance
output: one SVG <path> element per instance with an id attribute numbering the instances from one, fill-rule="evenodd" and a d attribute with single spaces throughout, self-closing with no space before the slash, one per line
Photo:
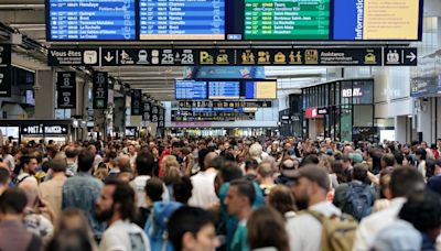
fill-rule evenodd
<path id="1" fill-rule="evenodd" d="M 132 223 L 136 218 L 135 192 L 127 183 L 110 178 L 97 199 L 96 217 L 109 226 L 100 251 L 150 251 L 144 231 Z"/>

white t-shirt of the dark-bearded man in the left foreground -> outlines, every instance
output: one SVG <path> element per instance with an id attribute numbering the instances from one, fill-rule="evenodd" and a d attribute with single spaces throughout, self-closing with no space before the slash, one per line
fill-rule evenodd
<path id="1" fill-rule="evenodd" d="M 150 251 L 144 231 L 135 223 L 118 220 L 103 234 L 100 251 Z"/>

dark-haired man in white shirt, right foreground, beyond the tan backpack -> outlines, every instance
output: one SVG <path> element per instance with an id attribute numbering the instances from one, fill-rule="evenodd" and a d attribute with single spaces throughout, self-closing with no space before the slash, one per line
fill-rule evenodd
<path id="1" fill-rule="evenodd" d="M 354 251 L 370 250 L 378 232 L 397 220 L 407 197 L 424 189 L 426 184 L 422 175 L 415 167 L 406 166 L 394 170 L 389 187 L 392 195 L 390 206 L 362 220 L 355 233 Z"/>

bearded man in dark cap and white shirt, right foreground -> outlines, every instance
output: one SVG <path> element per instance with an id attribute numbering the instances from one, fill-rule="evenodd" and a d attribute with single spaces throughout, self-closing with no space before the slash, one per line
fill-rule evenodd
<path id="1" fill-rule="evenodd" d="M 318 165 L 305 165 L 294 175 L 293 194 L 299 210 L 318 211 L 326 217 L 341 216 L 342 211 L 326 201 L 330 178 Z M 291 251 L 320 251 L 322 225 L 312 215 L 301 214 L 287 223 Z"/>

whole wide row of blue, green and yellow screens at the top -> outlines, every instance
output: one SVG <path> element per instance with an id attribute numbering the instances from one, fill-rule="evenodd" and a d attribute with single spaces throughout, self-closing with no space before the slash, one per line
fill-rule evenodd
<path id="1" fill-rule="evenodd" d="M 423 0 L 45 0 L 49 41 L 419 41 Z"/>

